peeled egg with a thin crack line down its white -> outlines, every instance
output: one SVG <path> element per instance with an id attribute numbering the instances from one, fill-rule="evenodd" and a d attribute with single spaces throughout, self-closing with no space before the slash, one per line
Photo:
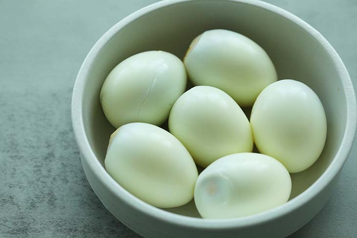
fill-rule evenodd
<path id="1" fill-rule="evenodd" d="M 186 70 L 178 57 L 146 51 L 112 69 L 100 92 L 100 102 L 115 128 L 131 122 L 161 125 L 185 87 Z"/>

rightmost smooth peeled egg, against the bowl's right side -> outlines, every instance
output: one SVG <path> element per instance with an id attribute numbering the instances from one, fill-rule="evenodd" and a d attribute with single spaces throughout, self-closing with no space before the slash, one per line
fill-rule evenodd
<path id="1" fill-rule="evenodd" d="M 250 124 L 259 152 L 279 160 L 290 173 L 309 168 L 325 145 L 322 103 L 310 87 L 295 80 L 265 88 L 254 103 Z"/>

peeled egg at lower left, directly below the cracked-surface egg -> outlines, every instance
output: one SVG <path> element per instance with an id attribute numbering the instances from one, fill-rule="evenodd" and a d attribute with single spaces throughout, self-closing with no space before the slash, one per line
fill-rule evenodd
<path id="1" fill-rule="evenodd" d="M 115 130 L 105 168 L 128 192 L 160 208 L 192 200 L 198 177 L 191 155 L 179 140 L 147 123 L 129 123 Z"/>

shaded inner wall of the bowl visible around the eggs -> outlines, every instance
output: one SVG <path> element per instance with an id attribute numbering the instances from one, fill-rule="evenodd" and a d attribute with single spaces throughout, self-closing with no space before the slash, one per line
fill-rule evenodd
<path id="1" fill-rule="evenodd" d="M 89 144 L 103 165 L 114 128 L 102 112 L 99 92 L 115 65 L 147 50 L 168 51 L 182 59 L 197 35 L 216 28 L 236 31 L 261 45 L 273 61 L 278 79 L 299 80 L 322 101 L 328 122 L 326 145 L 311 168 L 291 174 L 292 199 L 309 188 L 334 159 L 346 126 L 345 94 L 333 59 L 309 32 L 283 16 L 247 3 L 181 2 L 141 16 L 117 32 L 90 66 L 86 79 L 83 117 Z M 193 202 L 167 210 L 199 216 Z"/>

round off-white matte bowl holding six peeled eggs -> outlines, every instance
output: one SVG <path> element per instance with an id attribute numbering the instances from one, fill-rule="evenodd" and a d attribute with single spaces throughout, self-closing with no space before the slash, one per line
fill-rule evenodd
<path id="1" fill-rule="evenodd" d="M 147 50 L 165 50 L 182 59 L 205 30 L 239 32 L 268 53 L 279 79 L 311 87 L 325 108 L 328 134 L 315 164 L 291 174 L 290 200 L 253 216 L 202 219 L 193 201 L 172 209 L 153 207 L 117 184 L 104 168 L 114 128 L 100 103 L 101 86 L 112 68 Z M 302 227 L 326 203 L 337 184 L 356 130 L 356 98 L 348 72 L 327 40 L 289 12 L 256 0 L 166 0 L 147 6 L 106 32 L 81 66 L 72 97 L 72 123 L 83 169 L 104 206 L 146 238 L 281 238 Z"/>

